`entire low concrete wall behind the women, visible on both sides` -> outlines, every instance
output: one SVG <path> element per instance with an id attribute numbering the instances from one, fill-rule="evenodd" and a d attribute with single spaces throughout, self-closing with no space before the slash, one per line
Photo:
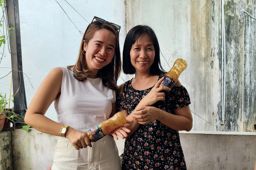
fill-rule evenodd
<path id="1" fill-rule="evenodd" d="M 0 147 L 0 170 L 12 170 L 12 161 L 13 170 L 45 170 L 51 165 L 56 136 L 31 128 L 29 132 L 0 132 L 0 137 L 8 141 L 0 145 L 9 147 Z M 180 131 L 188 170 L 252 170 L 256 161 L 255 137 L 255 132 Z M 121 154 L 124 140 L 116 143 Z"/>

